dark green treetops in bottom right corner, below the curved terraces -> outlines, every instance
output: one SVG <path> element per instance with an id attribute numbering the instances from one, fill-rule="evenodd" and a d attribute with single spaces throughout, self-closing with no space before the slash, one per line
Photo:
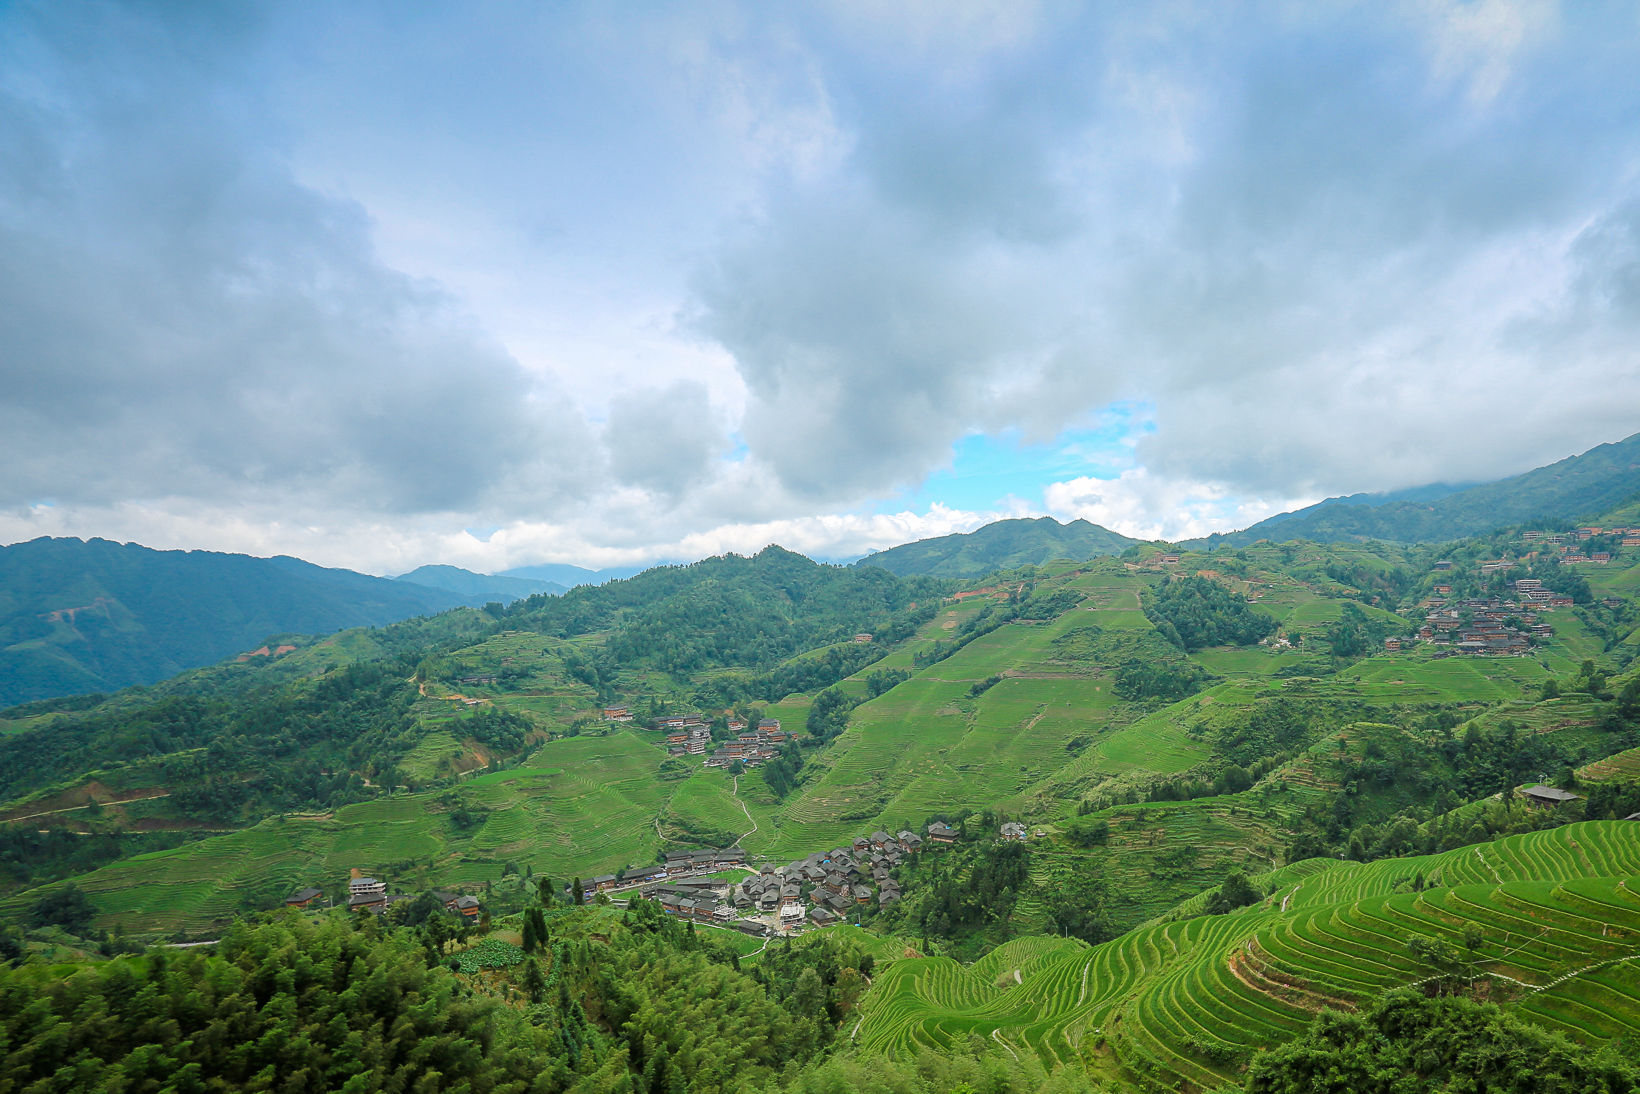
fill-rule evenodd
<path id="1" fill-rule="evenodd" d="M 1594 1051 L 1499 1010 L 1397 991 L 1363 1014 L 1328 1010 L 1309 1032 L 1253 1058 L 1250 1094 L 1402 1091 L 1640 1091 L 1640 1064 Z"/>

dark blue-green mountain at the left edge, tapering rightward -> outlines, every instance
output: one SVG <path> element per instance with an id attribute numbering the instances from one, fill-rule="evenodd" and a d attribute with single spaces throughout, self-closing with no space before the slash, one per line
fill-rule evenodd
<path id="1" fill-rule="evenodd" d="M 295 558 L 39 538 L 0 548 L 0 707 L 151 684 L 262 645 L 461 597 Z"/>

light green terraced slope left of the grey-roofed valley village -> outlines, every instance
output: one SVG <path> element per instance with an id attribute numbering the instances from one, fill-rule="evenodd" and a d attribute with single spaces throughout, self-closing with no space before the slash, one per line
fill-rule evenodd
<path id="1" fill-rule="evenodd" d="M 356 866 L 405 889 L 472 887 L 499 879 L 507 863 L 590 876 L 654 861 L 669 845 L 658 818 L 736 833 L 751 828 L 727 776 L 702 771 L 661 781 L 656 768 L 663 756 L 636 730 L 563 738 L 544 745 L 526 768 L 482 774 L 453 791 L 361 802 L 323 817 L 276 817 L 112 863 L 75 884 L 97 905 L 100 925 L 169 933 L 205 930 L 274 905 L 302 886 L 333 886 Z M 759 823 L 769 823 L 766 795 L 743 800 Z M 482 822 L 456 828 L 453 802 Z M 663 832 L 666 827 L 663 820 Z M 0 900 L 0 914 L 21 912 L 41 892 Z"/>

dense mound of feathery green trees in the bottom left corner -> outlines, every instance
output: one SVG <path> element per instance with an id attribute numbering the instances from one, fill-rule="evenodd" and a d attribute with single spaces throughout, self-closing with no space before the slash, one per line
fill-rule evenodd
<path id="1" fill-rule="evenodd" d="M 543 1032 L 418 946 L 348 922 L 236 927 L 216 953 L 0 971 L 0 1087 L 567 1089 Z M 33 1086 L 41 1083 L 44 1086 Z"/>

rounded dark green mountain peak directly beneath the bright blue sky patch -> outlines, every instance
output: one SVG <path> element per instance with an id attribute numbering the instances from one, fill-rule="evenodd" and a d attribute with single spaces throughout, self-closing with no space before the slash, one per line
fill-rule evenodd
<path id="1" fill-rule="evenodd" d="M 1140 540 L 1130 540 L 1086 520 L 1061 525 L 1053 517 L 1036 517 L 999 520 L 974 531 L 904 543 L 868 554 L 854 564 L 881 566 L 902 577 L 907 574 L 982 577 L 999 569 L 1041 564 L 1056 558 L 1081 561 L 1100 554 L 1120 554 L 1135 543 Z"/>

